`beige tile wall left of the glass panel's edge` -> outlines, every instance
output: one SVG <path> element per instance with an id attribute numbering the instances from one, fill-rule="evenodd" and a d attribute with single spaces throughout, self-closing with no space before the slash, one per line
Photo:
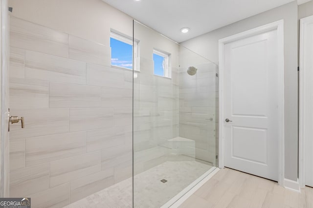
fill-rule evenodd
<path id="1" fill-rule="evenodd" d="M 10 196 L 63 207 L 132 176 L 133 72 L 110 46 L 10 17 Z"/>

